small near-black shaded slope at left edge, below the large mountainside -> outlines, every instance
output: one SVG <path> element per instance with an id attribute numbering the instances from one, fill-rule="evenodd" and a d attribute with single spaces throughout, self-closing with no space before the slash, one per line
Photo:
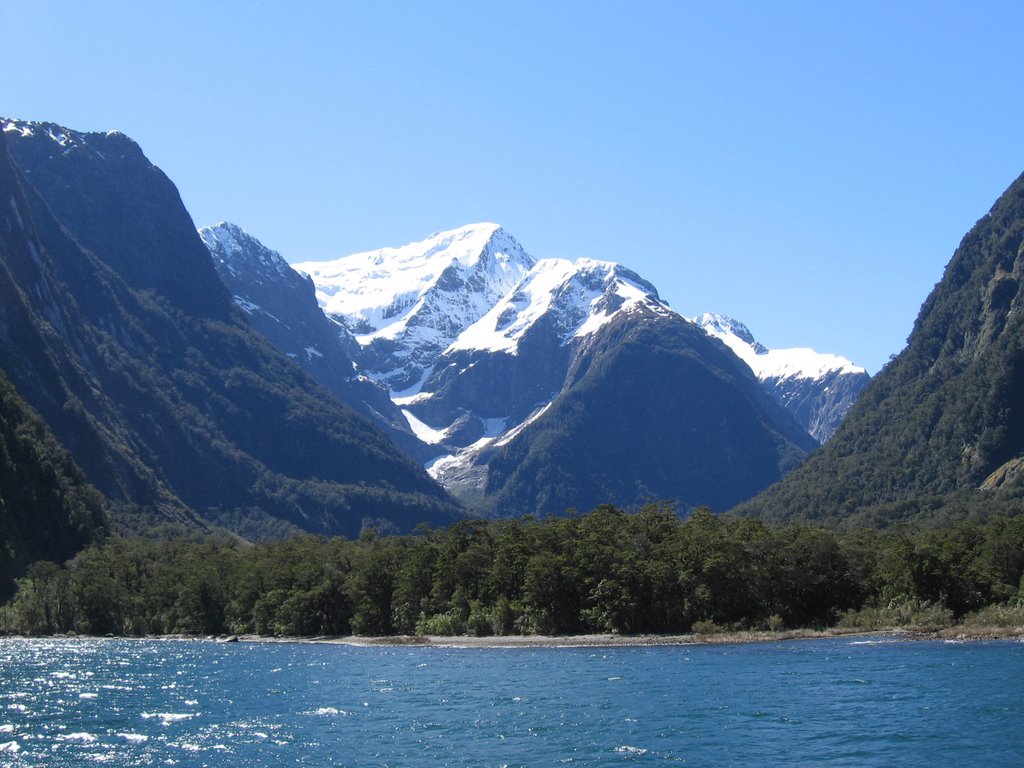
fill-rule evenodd
<path id="1" fill-rule="evenodd" d="M 0 599 L 30 562 L 63 562 L 105 528 L 102 496 L 0 372 Z"/>

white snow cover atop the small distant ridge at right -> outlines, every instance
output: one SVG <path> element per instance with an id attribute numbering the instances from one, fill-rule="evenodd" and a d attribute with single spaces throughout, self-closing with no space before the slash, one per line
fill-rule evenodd
<path id="1" fill-rule="evenodd" d="M 838 354 L 816 352 L 807 347 L 768 349 L 754 339 L 748 328 L 724 314 L 706 312 L 694 319 L 709 336 L 721 340 L 750 366 L 761 381 L 800 378 L 817 381 L 831 373 L 863 374 L 864 369 Z"/>

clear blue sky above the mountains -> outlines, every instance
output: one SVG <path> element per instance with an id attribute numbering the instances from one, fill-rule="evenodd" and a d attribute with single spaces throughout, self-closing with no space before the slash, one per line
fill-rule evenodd
<path id="1" fill-rule="evenodd" d="M 497 221 L 870 372 L 1024 171 L 1020 2 L 0 3 L 0 114 L 289 261 Z"/>

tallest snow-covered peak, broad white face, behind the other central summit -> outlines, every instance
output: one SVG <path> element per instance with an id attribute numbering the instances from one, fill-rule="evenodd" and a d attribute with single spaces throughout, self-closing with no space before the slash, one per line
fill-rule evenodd
<path id="1" fill-rule="evenodd" d="M 355 336 L 364 370 L 401 391 L 420 384 L 437 355 L 532 265 L 514 238 L 483 223 L 295 268 L 312 278 L 321 306 Z"/>

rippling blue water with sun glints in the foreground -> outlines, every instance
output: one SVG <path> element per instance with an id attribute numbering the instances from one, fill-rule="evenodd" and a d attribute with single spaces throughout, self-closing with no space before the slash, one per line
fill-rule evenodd
<path id="1" fill-rule="evenodd" d="M 1024 765 L 1024 643 L 0 641 L 0 765 Z"/>

